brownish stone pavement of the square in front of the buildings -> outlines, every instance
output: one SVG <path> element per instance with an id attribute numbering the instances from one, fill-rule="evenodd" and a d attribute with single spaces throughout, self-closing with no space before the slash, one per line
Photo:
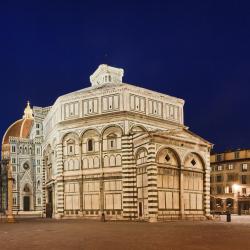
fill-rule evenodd
<path id="1" fill-rule="evenodd" d="M 250 250 L 250 216 L 164 223 L 22 219 L 0 222 L 0 250 Z"/>

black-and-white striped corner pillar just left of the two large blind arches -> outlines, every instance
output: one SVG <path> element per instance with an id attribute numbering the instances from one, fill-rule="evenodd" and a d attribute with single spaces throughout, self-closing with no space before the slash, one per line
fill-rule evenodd
<path id="1" fill-rule="evenodd" d="M 158 216 L 158 189 L 157 189 L 157 165 L 156 148 L 153 143 L 148 147 L 147 167 L 148 174 L 148 216 L 149 222 L 156 222 Z"/>

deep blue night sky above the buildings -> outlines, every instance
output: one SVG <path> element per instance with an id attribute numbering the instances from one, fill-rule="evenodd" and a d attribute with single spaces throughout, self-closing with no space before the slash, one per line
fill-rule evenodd
<path id="1" fill-rule="evenodd" d="M 1 1 L 0 135 L 26 101 L 52 105 L 99 64 L 185 99 L 215 150 L 250 147 L 249 1 Z"/>

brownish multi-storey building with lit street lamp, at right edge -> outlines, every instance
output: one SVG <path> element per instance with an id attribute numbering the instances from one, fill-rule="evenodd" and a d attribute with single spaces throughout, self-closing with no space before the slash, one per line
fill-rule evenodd
<path id="1" fill-rule="evenodd" d="M 211 155 L 211 210 L 249 214 L 250 150 Z"/>

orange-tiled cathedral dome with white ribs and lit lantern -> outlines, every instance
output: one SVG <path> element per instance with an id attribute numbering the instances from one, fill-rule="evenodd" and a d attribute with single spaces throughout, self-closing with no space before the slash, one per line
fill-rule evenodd
<path id="1" fill-rule="evenodd" d="M 28 138 L 33 125 L 33 112 L 28 102 L 23 118 L 12 123 L 4 134 L 2 144 L 8 144 L 10 137 Z"/>

